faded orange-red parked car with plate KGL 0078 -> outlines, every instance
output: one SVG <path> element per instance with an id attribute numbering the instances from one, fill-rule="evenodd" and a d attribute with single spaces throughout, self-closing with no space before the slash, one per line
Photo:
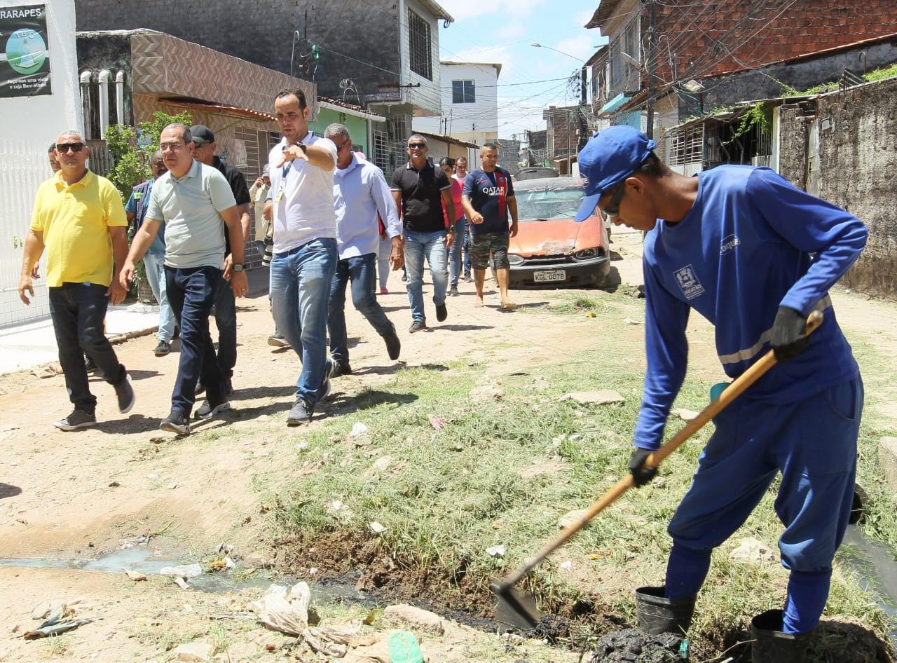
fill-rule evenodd
<path id="1" fill-rule="evenodd" d="M 585 196 L 579 178 L 527 179 L 514 184 L 518 233 L 510 240 L 512 288 L 600 287 L 610 271 L 600 213 L 573 221 Z"/>

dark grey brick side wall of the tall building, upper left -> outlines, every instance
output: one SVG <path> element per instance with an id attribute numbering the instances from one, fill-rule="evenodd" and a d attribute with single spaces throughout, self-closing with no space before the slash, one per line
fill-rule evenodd
<path id="1" fill-rule="evenodd" d="M 321 57 L 317 73 L 297 71 L 297 77 L 314 80 L 318 93 L 334 98 L 343 92 L 339 82 L 352 78 L 363 99 L 396 86 L 397 76 L 381 69 L 398 71 L 398 14 L 396 0 L 351 4 L 349 11 L 346 3 L 313 0 L 180 0 L 175 11 L 169 0 L 78 0 L 76 20 L 79 31 L 167 32 L 284 74 L 290 73 L 293 32 L 298 30 L 321 47 Z M 296 44 L 296 64 L 308 50 Z"/>

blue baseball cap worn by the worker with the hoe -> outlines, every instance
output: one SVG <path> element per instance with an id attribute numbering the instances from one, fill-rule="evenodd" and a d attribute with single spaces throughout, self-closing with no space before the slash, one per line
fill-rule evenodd
<path id="1" fill-rule="evenodd" d="M 585 221 L 594 214 L 602 194 L 638 170 L 653 149 L 654 141 L 629 125 L 595 132 L 579 153 L 579 177 L 586 180 L 586 197 L 573 218 Z"/>

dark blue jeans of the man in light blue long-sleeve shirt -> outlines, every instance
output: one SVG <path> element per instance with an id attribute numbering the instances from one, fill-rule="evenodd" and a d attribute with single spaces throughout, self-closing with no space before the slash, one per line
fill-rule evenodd
<path id="1" fill-rule="evenodd" d="M 383 308 L 374 297 L 377 277 L 377 254 L 347 257 L 336 263 L 336 273 L 330 284 L 330 313 L 327 333 L 330 336 L 330 355 L 336 363 L 349 362 L 349 339 L 345 330 L 345 286 L 352 283 L 352 303 L 361 311 L 370 326 L 380 336 L 396 333 Z"/>

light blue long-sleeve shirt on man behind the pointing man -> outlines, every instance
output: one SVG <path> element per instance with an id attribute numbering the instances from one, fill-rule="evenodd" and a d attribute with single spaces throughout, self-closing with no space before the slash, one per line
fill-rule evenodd
<path id="1" fill-rule="evenodd" d="M 340 260 L 379 251 L 378 214 L 388 237 L 402 234 L 383 172 L 357 153 L 347 168 L 334 171 L 334 209 Z"/>

